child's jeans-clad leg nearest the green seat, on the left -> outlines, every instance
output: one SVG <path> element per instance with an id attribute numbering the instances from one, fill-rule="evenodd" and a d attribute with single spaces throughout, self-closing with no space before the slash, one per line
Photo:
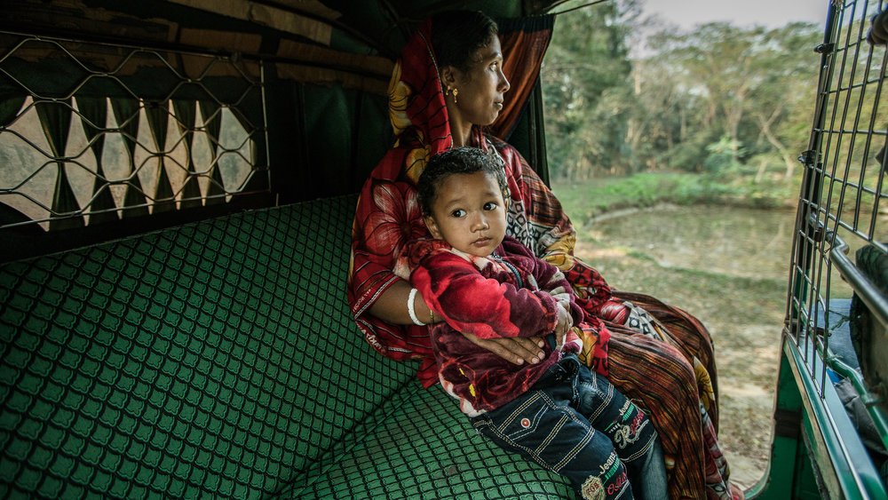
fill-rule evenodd
<path id="1" fill-rule="evenodd" d="M 632 487 L 613 442 L 572 406 L 575 386 L 547 378 L 472 424 L 498 446 L 567 477 L 581 498 L 628 500 Z"/>

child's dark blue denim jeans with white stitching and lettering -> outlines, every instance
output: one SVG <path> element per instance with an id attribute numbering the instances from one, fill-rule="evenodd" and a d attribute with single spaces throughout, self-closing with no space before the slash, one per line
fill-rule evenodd
<path id="1" fill-rule="evenodd" d="M 667 498 L 654 424 L 568 355 L 527 393 L 472 418 L 497 445 L 570 480 L 581 498 Z"/>

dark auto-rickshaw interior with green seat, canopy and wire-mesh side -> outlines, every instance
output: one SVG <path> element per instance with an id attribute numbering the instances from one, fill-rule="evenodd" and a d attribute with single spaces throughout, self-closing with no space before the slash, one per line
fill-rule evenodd
<path id="1" fill-rule="evenodd" d="M 480 9 L 506 60 L 534 54 L 504 68 L 493 131 L 548 181 L 537 75 L 561 4 L 5 5 L 0 495 L 570 497 L 476 435 L 414 365 L 379 356 L 345 299 L 408 36 L 432 13 Z M 770 464 L 747 498 L 888 497 L 872 451 L 888 447 L 888 14 L 821 4 L 793 250 L 779 256 Z"/>

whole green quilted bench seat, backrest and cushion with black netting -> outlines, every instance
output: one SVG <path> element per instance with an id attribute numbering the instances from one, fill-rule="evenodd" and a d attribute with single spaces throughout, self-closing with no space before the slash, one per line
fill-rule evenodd
<path id="1" fill-rule="evenodd" d="M 0 266 L 0 496 L 564 496 L 378 355 L 355 198 Z"/>

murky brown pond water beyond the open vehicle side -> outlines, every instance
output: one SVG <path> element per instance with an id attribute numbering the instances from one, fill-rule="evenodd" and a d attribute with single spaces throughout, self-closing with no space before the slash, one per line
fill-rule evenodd
<path id="1" fill-rule="evenodd" d="M 599 218 L 592 238 L 654 258 L 661 266 L 736 277 L 788 276 L 795 210 L 662 206 Z"/>

